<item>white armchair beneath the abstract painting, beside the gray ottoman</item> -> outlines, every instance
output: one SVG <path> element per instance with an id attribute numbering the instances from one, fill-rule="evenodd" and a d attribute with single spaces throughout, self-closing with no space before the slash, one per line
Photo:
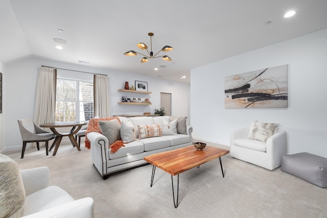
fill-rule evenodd
<path id="1" fill-rule="evenodd" d="M 265 143 L 247 138 L 249 128 L 230 133 L 230 156 L 270 170 L 281 166 L 287 146 L 285 130 L 278 128 Z"/>

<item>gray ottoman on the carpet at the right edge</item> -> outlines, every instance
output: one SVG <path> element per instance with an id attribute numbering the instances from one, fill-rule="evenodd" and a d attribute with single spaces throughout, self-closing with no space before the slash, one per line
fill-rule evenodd
<path id="1" fill-rule="evenodd" d="M 321 188 L 327 187 L 327 158 L 307 152 L 283 155 L 281 170 Z"/>

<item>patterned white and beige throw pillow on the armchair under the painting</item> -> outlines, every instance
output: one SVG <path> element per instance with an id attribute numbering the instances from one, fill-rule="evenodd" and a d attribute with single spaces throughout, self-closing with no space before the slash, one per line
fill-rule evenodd
<path id="1" fill-rule="evenodd" d="M 254 122 L 252 134 L 249 138 L 266 142 L 267 139 L 274 134 L 278 125 L 279 123 Z"/>

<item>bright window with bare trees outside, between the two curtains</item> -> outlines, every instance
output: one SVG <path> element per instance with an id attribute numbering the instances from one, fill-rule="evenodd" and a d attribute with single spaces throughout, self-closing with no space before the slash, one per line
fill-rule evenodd
<path id="1" fill-rule="evenodd" d="M 91 118 L 94 118 L 93 82 L 58 77 L 55 121 L 84 121 Z"/>

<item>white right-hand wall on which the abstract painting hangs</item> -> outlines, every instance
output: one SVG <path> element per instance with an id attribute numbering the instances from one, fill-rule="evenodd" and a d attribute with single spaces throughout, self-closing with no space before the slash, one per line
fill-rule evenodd
<path id="1" fill-rule="evenodd" d="M 225 109 L 225 76 L 284 64 L 288 108 Z M 326 81 L 327 29 L 192 69 L 193 137 L 229 146 L 229 133 L 251 120 L 280 122 L 287 132 L 288 154 L 327 157 Z"/>

